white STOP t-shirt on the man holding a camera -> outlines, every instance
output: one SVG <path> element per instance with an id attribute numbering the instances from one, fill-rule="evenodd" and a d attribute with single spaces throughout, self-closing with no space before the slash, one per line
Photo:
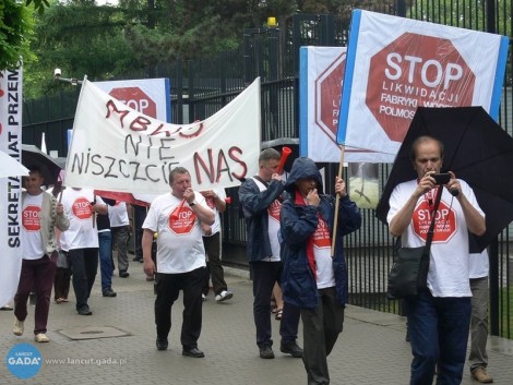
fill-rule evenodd
<path id="1" fill-rule="evenodd" d="M 470 187 L 462 180 L 460 184 L 470 205 L 485 216 Z M 394 189 L 386 217 L 389 224 L 416 188 L 417 180 L 413 180 L 401 183 Z M 430 207 L 432 207 L 434 196 L 433 191 L 429 196 L 425 194 L 418 200 L 413 219 L 402 236 L 403 246 L 425 245 L 431 224 Z M 468 280 L 468 230 L 460 202 L 445 188 L 436 218 L 428 288 L 433 297 L 472 297 Z"/>

